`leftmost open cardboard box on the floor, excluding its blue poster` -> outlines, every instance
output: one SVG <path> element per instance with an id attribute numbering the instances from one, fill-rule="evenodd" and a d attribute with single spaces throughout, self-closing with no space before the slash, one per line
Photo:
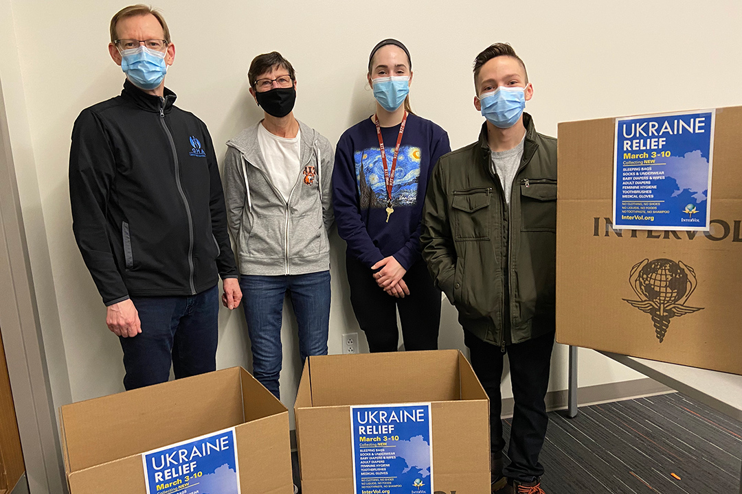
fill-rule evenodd
<path id="1" fill-rule="evenodd" d="M 59 421 L 71 494 L 146 493 L 142 453 L 229 427 L 241 492 L 294 492 L 289 412 L 241 367 L 65 405 Z"/>

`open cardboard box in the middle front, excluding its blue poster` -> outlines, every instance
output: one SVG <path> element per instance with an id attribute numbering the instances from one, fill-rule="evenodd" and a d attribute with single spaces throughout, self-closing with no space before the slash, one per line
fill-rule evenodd
<path id="1" fill-rule="evenodd" d="M 294 409 L 302 493 L 354 492 L 352 405 L 419 402 L 430 402 L 434 492 L 489 492 L 487 394 L 462 353 L 438 350 L 307 359 Z"/>

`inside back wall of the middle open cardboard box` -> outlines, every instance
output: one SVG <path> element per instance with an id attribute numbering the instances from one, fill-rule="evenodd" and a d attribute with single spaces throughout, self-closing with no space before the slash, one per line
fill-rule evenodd
<path id="1" fill-rule="evenodd" d="M 461 395 L 459 350 L 313 356 L 309 373 L 312 407 L 450 401 Z"/>

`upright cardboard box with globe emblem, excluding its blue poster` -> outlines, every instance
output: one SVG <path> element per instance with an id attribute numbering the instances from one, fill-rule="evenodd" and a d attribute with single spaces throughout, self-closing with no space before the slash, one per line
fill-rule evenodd
<path id="1" fill-rule="evenodd" d="M 559 124 L 557 341 L 742 374 L 742 107 L 716 110 L 706 232 L 614 228 L 614 123 Z M 661 311 L 637 276 L 677 289 Z"/>

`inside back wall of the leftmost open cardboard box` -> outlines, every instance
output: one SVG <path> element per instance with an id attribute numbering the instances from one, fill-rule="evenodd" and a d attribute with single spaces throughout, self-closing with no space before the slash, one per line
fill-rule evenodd
<path id="1" fill-rule="evenodd" d="M 240 424 L 239 372 L 232 367 L 61 407 L 68 472 Z"/>

